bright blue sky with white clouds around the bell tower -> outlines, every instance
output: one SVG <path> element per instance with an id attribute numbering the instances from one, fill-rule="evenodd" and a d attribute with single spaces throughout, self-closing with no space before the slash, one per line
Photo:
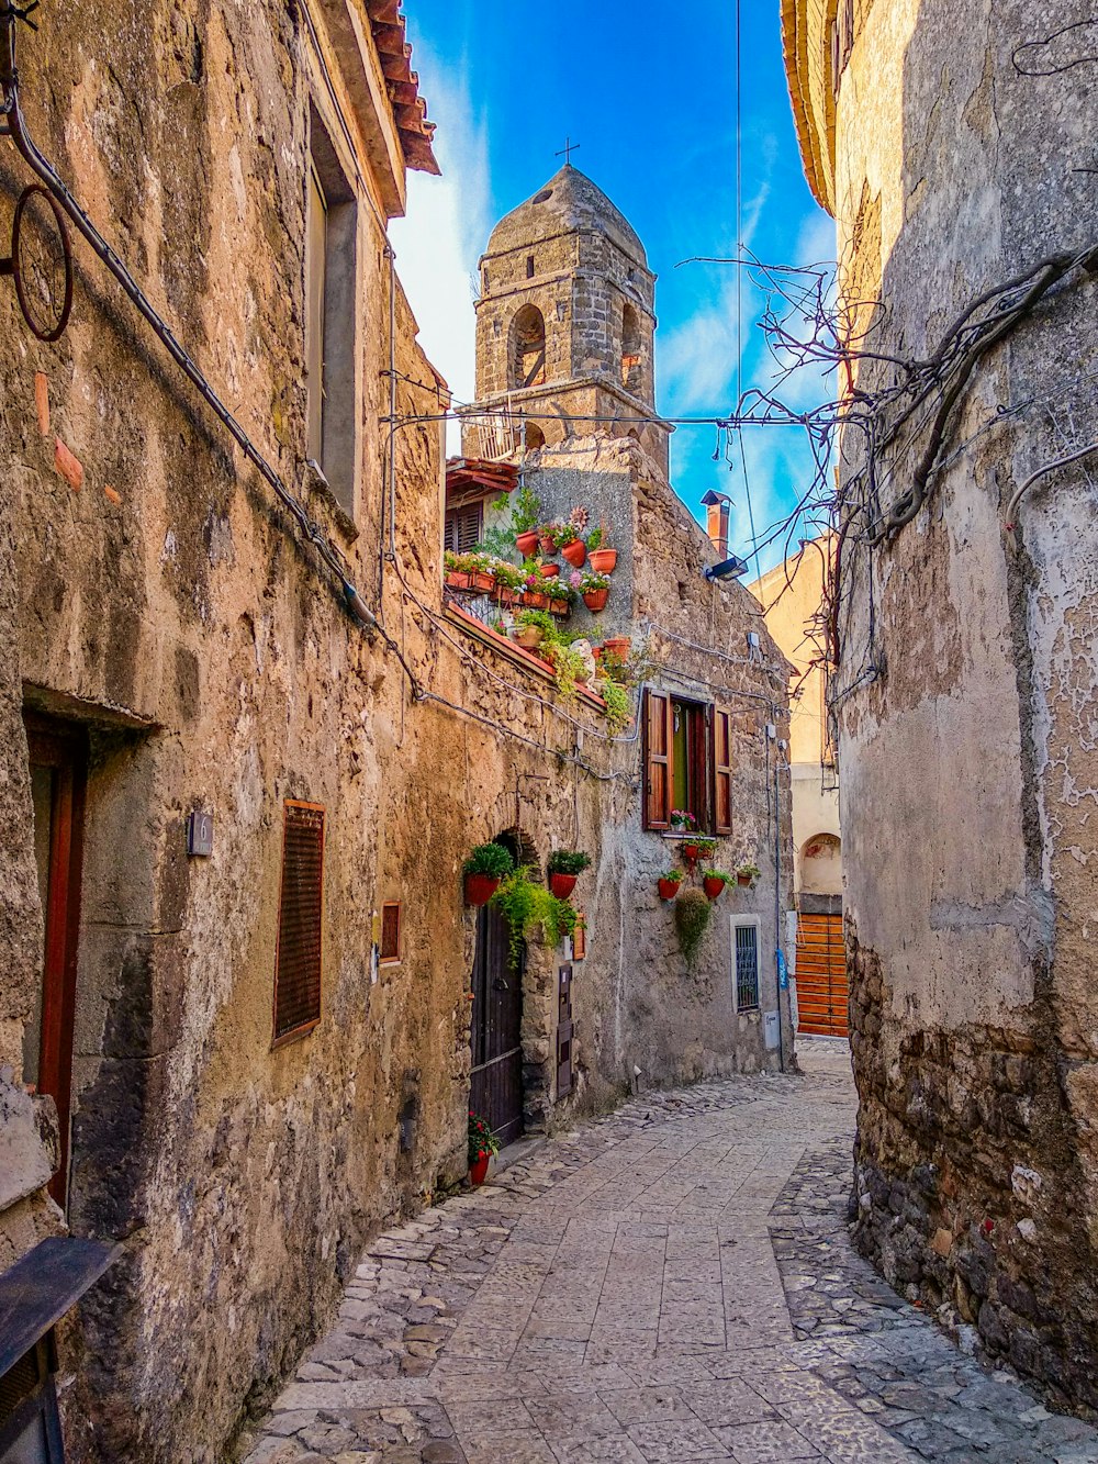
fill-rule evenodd
<path id="1" fill-rule="evenodd" d="M 682 265 L 731 255 L 735 208 L 735 6 L 653 0 L 550 7 L 486 0 L 406 0 L 413 66 L 438 122 L 442 179 L 410 176 L 408 217 L 392 227 L 397 268 L 420 338 L 461 400 L 473 397 L 476 262 L 492 224 L 550 177 L 565 136 L 572 163 L 621 208 L 657 272 L 657 407 L 714 416 L 735 401 L 735 269 Z M 801 170 L 782 64 L 779 0 L 742 6 L 742 239 L 767 261 L 833 258 L 832 221 Z M 770 372 L 744 291 L 744 381 Z M 823 384 L 798 388 L 808 404 Z M 672 438 L 672 482 L 698 512 L 709 488 L 732 493 L 733 537 L 750 540 L 742 473 L 713 461 L 712 427 Z M 745 438 L 755 524 L 795 501 L 810 460 L 798 429 Z M 774 561 L 764 555 L 763 568 Z"/>

